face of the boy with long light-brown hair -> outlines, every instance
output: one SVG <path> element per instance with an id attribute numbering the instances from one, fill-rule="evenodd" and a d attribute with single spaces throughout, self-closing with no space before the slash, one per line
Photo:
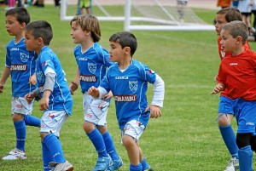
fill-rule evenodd
<path id="1" fill-rule="evenodd" d="M 73 38 L 73 43 L 82 43 L 85 40 L 86 31 L 83 31 L 81 26 L 77 25 L 76 21 L 73 21 L 70 35 Z"/>

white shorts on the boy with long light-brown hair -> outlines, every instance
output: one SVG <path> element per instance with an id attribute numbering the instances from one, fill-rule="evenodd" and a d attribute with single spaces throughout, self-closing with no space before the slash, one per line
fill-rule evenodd
<path id="1" fill-rule="evenodd" d="M 93 99 L 84 93 L 84 121 L 104 126 L 107 123 L 108 101 Z"/>

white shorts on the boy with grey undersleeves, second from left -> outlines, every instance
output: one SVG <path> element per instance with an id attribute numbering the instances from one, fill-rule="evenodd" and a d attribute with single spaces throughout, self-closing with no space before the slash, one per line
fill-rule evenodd
<path id="1" fill-rule="evenodd" d="M 67 117 L 67 111 L 44 111 L 41 118 L 40 133 L 52 133 L 59 137 L 61 127 L 66 122 Z"/>

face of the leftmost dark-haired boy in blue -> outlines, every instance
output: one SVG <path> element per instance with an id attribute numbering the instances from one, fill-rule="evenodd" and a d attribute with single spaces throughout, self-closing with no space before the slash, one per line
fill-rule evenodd
<path id="1" fill-rule="evenodd" d="M 26 24 L 20 24 L 15 14 L 9 14 L 5 18 L 5 28 L 10 36 L 19 36 L 24 31 Z"/>

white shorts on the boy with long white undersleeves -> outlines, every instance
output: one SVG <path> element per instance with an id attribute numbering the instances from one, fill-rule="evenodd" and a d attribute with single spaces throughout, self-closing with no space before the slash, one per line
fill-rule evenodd
<path id="1" fill-rule="evenodd" d="M 122 139 L 124 135 L 129 135 L 138 141 L 142 136 L 145 128 L 145 125 L 138 122 L 137 120 L 131 120 L 130 122 L 126 123 L 125 128 L 121 130 L 121 144 L 123 145 Z"/>

